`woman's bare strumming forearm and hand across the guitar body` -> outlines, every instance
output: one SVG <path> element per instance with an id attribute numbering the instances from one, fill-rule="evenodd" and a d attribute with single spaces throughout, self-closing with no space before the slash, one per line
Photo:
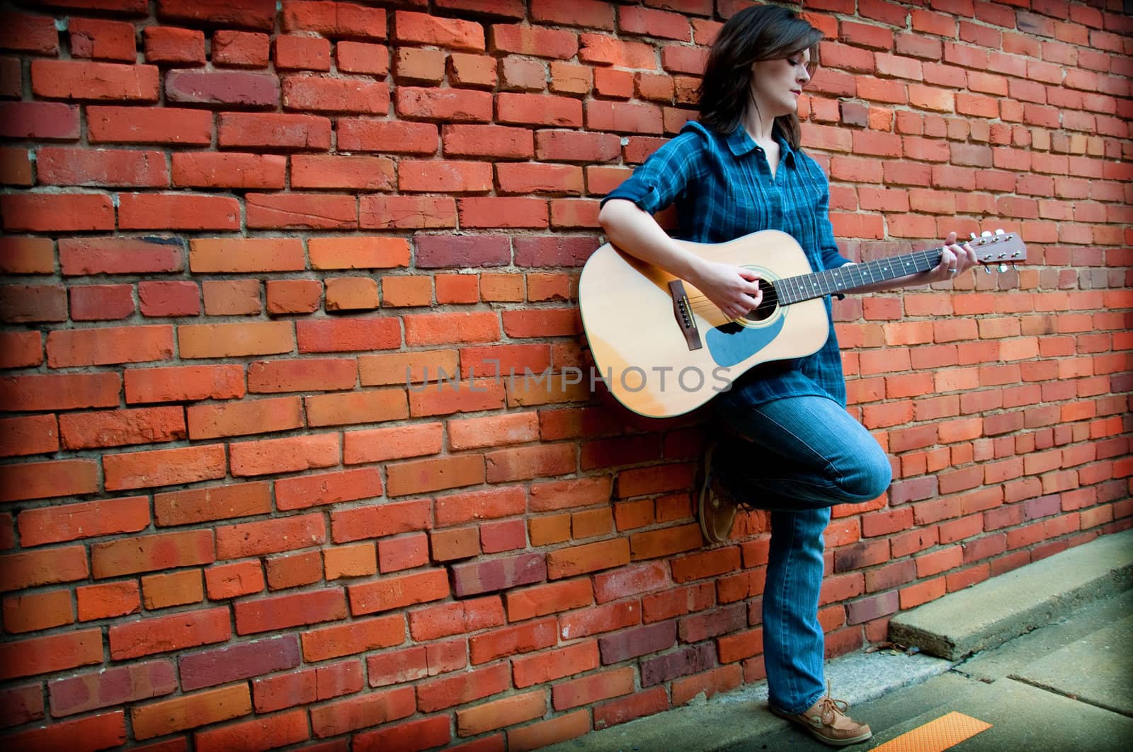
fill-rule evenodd
<path id="1" fill-rule="evenodd" d="M 730 318 L 743 316 L 763 300 L 757 274 L 731 264 L 706 260 L 684 249 L 668 237 L 653 215 L 631 200 L 607 200 L 598 213 L 598 223 L 615 246 L 685 280 Z"/>

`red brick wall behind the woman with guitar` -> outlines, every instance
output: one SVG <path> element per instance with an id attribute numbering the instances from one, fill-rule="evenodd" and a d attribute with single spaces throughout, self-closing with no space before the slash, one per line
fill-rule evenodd
<path id="1" fill-rule="evenodd" d="M 701 547 L 698 424 L 406 387 L 582 362 L 597 198 L 739 5 L 3 11 L 6 749 L 519 750 L 760 678 L 766 521 Z M 846 251 L 1030 249 L 837 306 L 896 470 L 828 532 L 842 653 L 1133 521 L 1133 39 L 1119 0 L 807 5 Z"/>

